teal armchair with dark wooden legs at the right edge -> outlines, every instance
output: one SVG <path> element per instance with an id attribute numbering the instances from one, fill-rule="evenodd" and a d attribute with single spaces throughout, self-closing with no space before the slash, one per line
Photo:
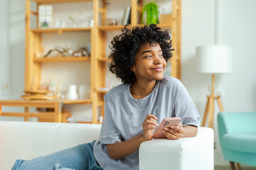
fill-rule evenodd
<path id="1" fill-rule="evenodd" d="M 256 112 L 218 114 L 218 133 L 224 159 L 256 166 Z"/>

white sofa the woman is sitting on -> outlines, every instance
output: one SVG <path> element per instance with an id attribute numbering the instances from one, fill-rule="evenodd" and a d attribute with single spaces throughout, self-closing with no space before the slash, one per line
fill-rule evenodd
<path id="1" fill-rule="evenodd" d="M 33 159 L 99 137 L 100 125 L 0 121 L 0 169 L 16 159 Z M 140 170 L 213 170 L 213 130 L 198 128 L 196 137 L 151 140 L 139 148 Z"/>

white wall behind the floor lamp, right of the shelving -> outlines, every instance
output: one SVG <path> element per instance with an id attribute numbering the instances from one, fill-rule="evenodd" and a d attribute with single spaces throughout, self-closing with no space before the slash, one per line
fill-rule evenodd
<path id="1" fill-rule="evenodd" d="M 201 117 L 210 94 L 210 74 L 196 69 L 196 46 L 213 45 L 214 1 L 183 0 L 181 28 L 181 64 L 183 84 L 191 94 Z M 233 72 L 216 75 L 216 88 L 225 111 L 256 111 L 256 1 L 220 0 L 220 44 L 233 48 Z M 215 103 L 217 104 L 217 103 Z M 215 118 L 218 107 L 215 107 Z M 215 119 L 215 164 L 224 161 Z"/>

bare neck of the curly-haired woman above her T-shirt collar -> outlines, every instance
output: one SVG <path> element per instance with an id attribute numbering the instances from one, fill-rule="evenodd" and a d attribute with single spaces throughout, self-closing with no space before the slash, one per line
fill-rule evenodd
<path id="1" fill-rule="evenodd" d="M 142 99 L 148 96 L 153 91 L 156 85 L 156 80 L 150 82 L 138 82 L 136 81 L 129 87 L 130 93 L 134 98 Z"/>

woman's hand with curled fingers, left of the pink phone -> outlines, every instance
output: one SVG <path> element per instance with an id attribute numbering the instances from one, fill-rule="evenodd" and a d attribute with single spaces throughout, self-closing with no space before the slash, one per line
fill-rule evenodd
<path id="1" fill-rule="evenodd" d="M 142 137 L 144 140 L 151 140 L 154 135 L 154 130 L 159 126 L 157 123 L 157 118 L 155 115 L 148 114 L 144 120 L 143 125 L 143 134 Z"/>

